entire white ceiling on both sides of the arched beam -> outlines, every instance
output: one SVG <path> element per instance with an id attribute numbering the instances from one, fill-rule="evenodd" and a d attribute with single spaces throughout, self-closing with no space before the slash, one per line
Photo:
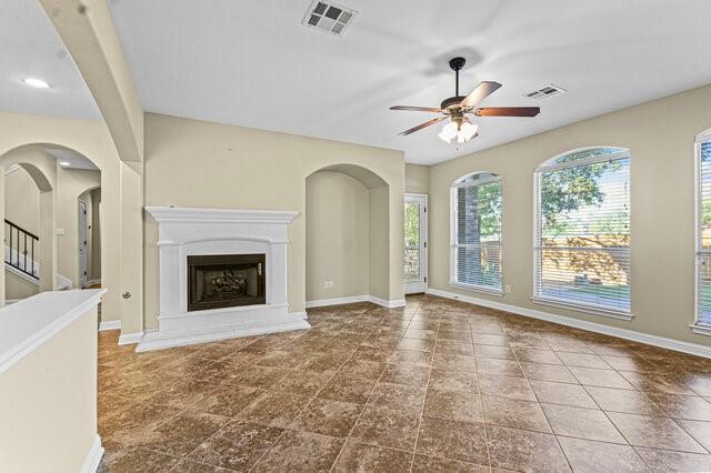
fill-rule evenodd
<path id="1" fill-rule="evenodd" d="M 404 150 L 435 163 L 711 82 L 708 0 L 340 0 L 360 11 L 343 38 L 306 28 L 311 0 L 110 0 L 148 111 Z M 571 7 L 574 4 L 574 7 Z M 447 7 L 447 8 L 444 8 Z M 479 119 L 457 148 L 430 118 L 461 89 L 503 88 L 485 105 L 540 105 L 534 119 Z M 39 77 L 52 84 L 21 83 Z M 569 90 L 542 102 L 524 93 Z M 2 0 L 0 110 L 100 119 L 39 2 Z"/>

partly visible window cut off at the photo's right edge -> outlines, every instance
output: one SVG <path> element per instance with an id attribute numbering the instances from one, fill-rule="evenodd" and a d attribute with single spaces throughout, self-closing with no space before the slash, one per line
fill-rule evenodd
<path id="1" fill-rule="evenodd" d="M 697 139 L 697 320 L 711 333 L 711 131 Z"/>

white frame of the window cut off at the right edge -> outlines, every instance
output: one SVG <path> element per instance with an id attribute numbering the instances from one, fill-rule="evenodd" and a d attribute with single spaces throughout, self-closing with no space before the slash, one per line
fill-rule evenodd
<path id="1" fill-rule="evenodd" d="M 689 326 L 694 333 L 701 335 L 711 335 L 711 326 L 702 325 L 699 323 L 699 300 L 701 298 L 701 279 L 699 272 L 699 256 L 710 255 L 711 250 L 703 250 L 702 246 L 702 212 L 703 212 L 703 195 L 701 189 L 701 145 L 703 143 L 711 142 L 711 129 L 697 134 L 694 141 L 694 255 L 693 255 L 693 323 Z"/>

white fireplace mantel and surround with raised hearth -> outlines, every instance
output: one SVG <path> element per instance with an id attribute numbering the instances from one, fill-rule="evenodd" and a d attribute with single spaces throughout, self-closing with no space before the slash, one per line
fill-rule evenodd
<path id="1" fill-rule="evenodd" d="M 146 207 L 158 222 L 159 328 L 137 351 L 309 329 L 304 313 L 289 314 L 287 300 L 290 211 Z M 267 303 L 188 311 L 188 256 L 266 255 Z"/>

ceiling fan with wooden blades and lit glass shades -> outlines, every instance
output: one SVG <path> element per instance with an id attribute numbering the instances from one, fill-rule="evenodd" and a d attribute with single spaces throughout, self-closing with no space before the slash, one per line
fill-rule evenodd
<path id="1" fill-rule="evenodd" d="M 452 139 L 454 138 L 457 138 L 458 143 L 464 143 L 479 134 L 477 133 L 479 127 L 477 127 L 469 120 L 469 117 L 467 117 L 468 114 L 473 114 L 474 117 L 535 117 L 537 114 L 539 114 L 539 112 L 541 111 L 539 107 L 475 108 L 482 100 L 484 100 L 491 93 L 495 92 L 501 87 L 501 84 L 499 82 L 484 81 L 477 85 L 477 88 L 469 95 L 460 95 L 459 71 L 464 67 L 464 58 L 453 58 L 449 61 L 449 67 L 452 68 L 455 73 L 455 92 L 454 97 L 444 99 L 439 109 L 432 107 L 404 105 L 394 105 L 390 108 L 390 110 L 407 110 L 442 114 L 441 117 L 434 118 L 409 130 L 405 130 L 400 134 L 411 134 L 415 131 L 420 131 L 434 123 L 439 123 L 449 119 L 450 122 L 447 123 L 444 128 L 442 128 L 439 137 L 448 143 L 451 143 Z"/>

